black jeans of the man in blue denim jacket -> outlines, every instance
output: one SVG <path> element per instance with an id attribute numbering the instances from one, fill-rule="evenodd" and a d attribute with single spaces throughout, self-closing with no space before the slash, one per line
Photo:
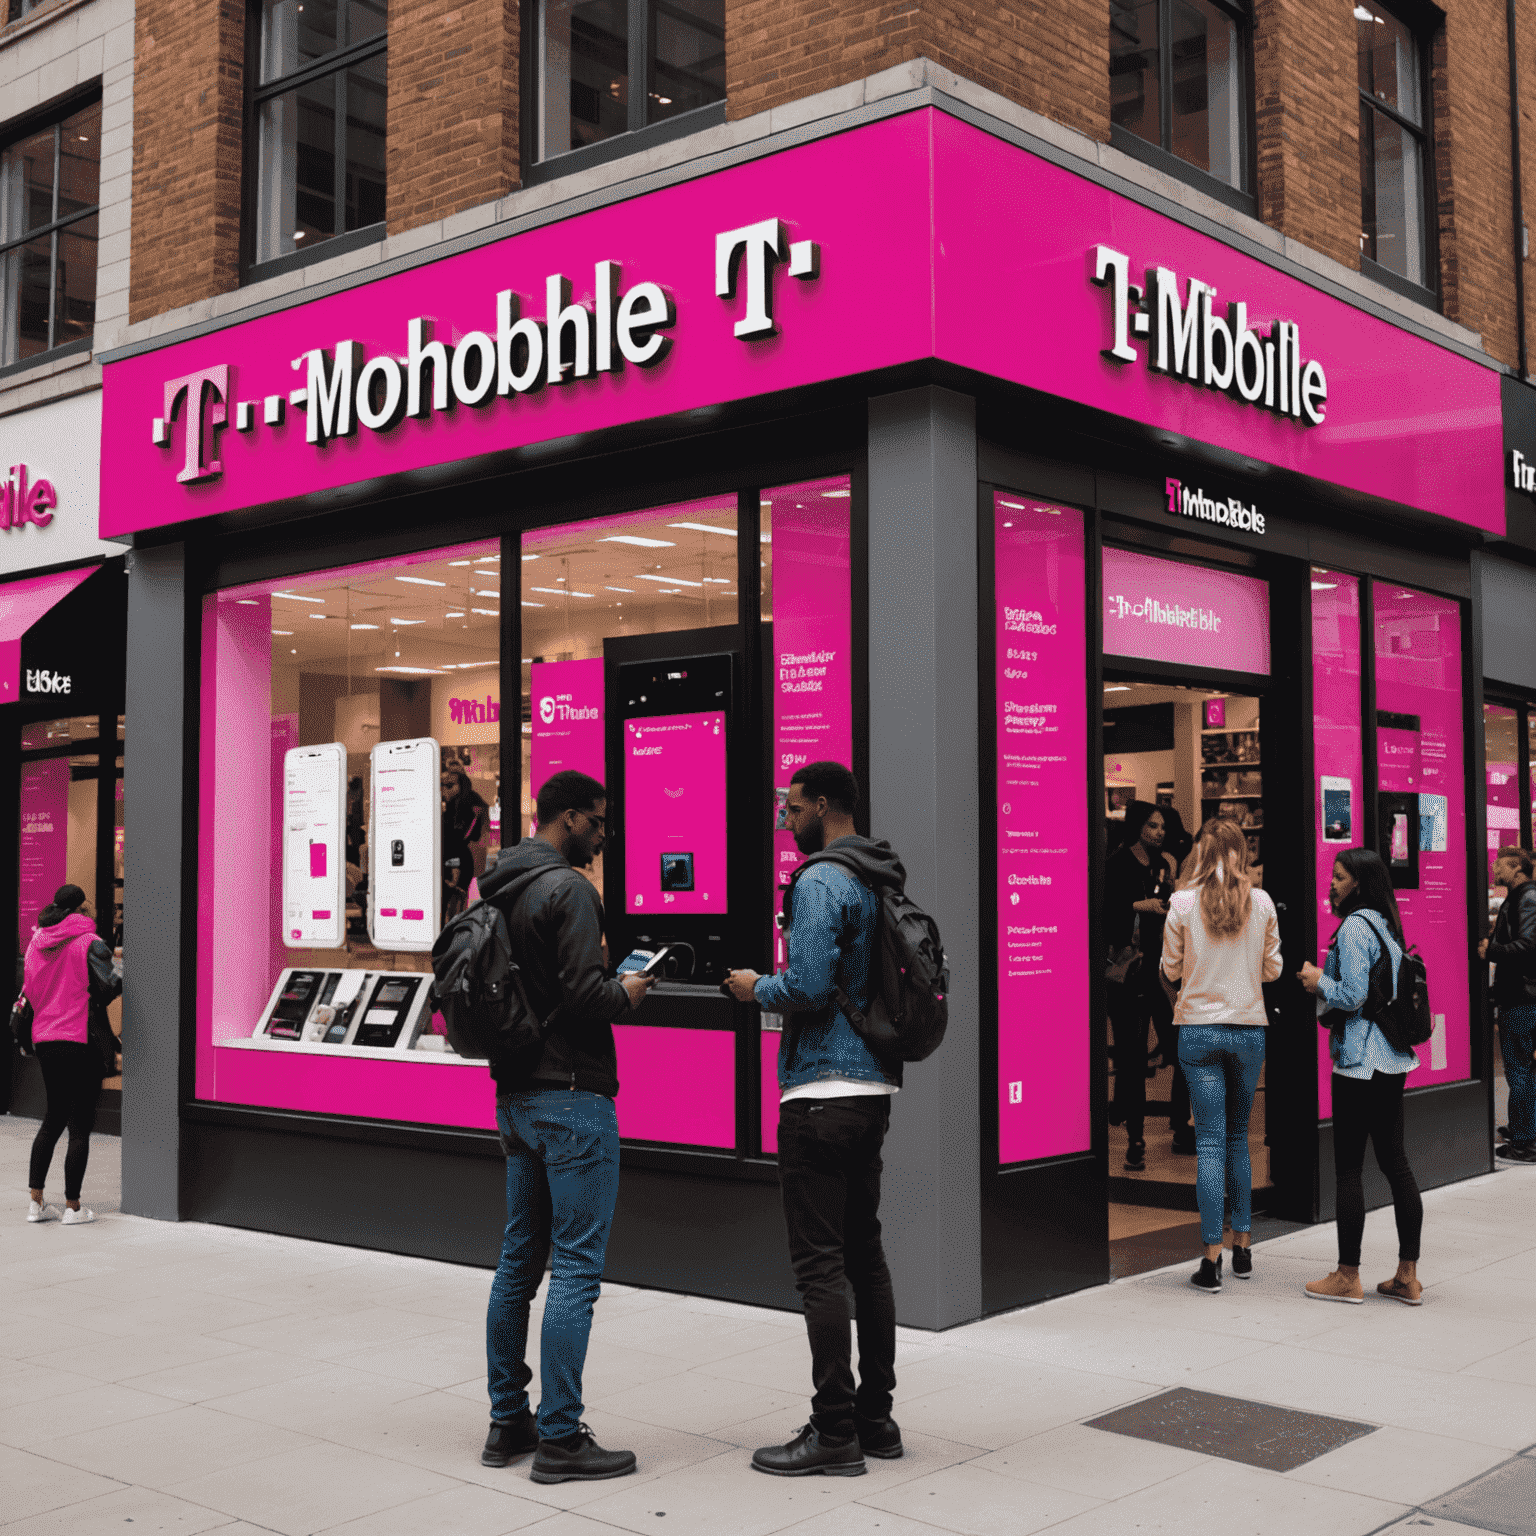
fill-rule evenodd
<path id="1" fill-rule="evenodd" d="M 779 1183 L 790 1263 L 811 1336 L 811 1415 L 851 1433 L 857 1412 L 883 1419 L 895 1390 L 895 1296 L 880 1246 L 880 1146 L 891 1097 L 791 1098 L 779 1111 Z M 859 1309 L 859 1390 L 848 1289 Z"/>

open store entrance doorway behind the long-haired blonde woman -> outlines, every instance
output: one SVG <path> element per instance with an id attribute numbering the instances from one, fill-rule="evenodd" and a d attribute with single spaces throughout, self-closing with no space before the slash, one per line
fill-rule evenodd
<path id="1" fill-rule="evenodd" d="M 1174 1263 L 1198 1244 L 1189 1089 L 1178 1068 L 1174 1006 L 1158 975 L 1161 914 L 1195 834 L 1212 817 L 1243 829 L 1250 879 L 1264 886 L 1270 834 L 1261 739 L 1256 694 L 1106 673 L 1103 1040 L 1115 1275 Z M 1266 1075 L 1249 1120 L 1256 1210 L 1273 1190 Z"/>

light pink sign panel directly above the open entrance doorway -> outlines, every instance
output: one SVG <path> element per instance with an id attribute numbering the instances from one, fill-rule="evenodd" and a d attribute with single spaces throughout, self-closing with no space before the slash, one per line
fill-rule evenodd
<path id="1" fill-rule="evenodd" d="M 1269 584 L 1104 547 L 1104 654 L 1269 674 Z"/>

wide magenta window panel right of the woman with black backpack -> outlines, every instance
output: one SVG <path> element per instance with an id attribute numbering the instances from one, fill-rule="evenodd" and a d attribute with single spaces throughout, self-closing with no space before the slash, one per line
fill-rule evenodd
<path id="1" fill-rule="evenodd" d="M 1409 943 L 1428 968 L 1435 1020 L 1409 1086 L 1459 1083 L 1471 1075 L 1461 604 L 1396 582 L 1373 582 L 1372 598 L 1379 786 L 1412 797 L 1409 808 L 1393 811 L 1393 820 L 1401 819 L 1395 859 L 1415 851 L 1399 845 L 1418 822 L 1418 880 L 1396 894 Z M 1392 831 L 1382 826 L 1384 842 Z M 1404 862 L 1412 866 L 1412 859 Z"/>

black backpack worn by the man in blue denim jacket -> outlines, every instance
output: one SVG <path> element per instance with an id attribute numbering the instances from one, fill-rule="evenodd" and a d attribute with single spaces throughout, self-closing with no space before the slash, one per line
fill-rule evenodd
<path id="1" fill-rule="evenodd" d="M 869 958 L 869 1009 L 863 1012 L 839 988 L 833 997 L 848 1023 L 876 1055 L 899 1061 L 922 1061 L 943 1043 L 949 1028 L 949 966 L 938 925 L 894 880 L 872 886 L 865 871 L 837 849 L 811 854 L 790 880 L 785 915 L 794 906 L 794 885 L 813 863 L 836 863 L 866 891 L 874 891 L 874 952 Z"/>

